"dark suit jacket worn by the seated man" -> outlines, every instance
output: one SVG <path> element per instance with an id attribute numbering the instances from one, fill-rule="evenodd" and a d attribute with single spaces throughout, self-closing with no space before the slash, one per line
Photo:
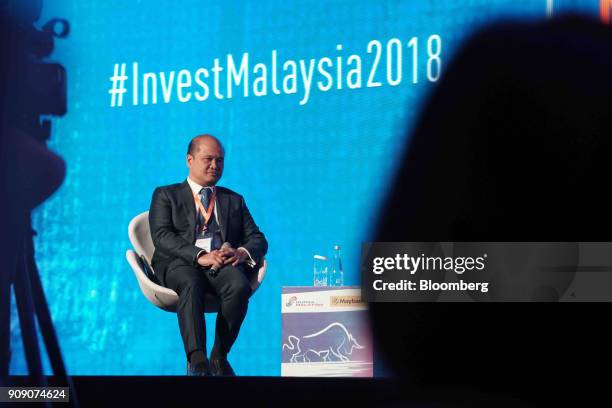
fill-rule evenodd
<path id="1" fill-rule="evenodd" d="M 268 242 L 253 221 L 244 198 L 224 187 L 216 187 L 217 216 L 222 242 L 233 248 L 246 248 L 258 268 L 268 250 Z M 155 245 L 152 266 L 165 284 L 166 271 L 178 265 L 197 265 L 201 251 L 195 246 L 196 207 L 189 183 L 158 187 L 149 210 L 151 238 Z M 245 268 L 248 267 L 245 264 Z M 248 271 L 247 271 L 248 272 Z"/>

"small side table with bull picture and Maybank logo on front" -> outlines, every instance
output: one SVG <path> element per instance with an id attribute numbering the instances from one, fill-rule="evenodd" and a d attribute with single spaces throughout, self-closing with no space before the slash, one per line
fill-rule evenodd
<path id="1" fill-rule="evenodd" d="M 282 288 L 283 377 L 372 377 L 372 332 L 359 286 Z"/>

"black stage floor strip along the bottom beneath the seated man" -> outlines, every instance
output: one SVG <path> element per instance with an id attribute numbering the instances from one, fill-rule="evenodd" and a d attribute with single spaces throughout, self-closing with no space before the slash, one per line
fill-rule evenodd
<path id="1" fill-rule="evenodd" d="M 459 389 L 412 389 L 391 378 L 75 376 L 72 381 L 80 407 L 532 406 L 507 396 Z M 31 385 L 24 376 L 12 376 L 8 382 Z M 65 385 L 54 377 L 48 382 L 49 386 Z"/>

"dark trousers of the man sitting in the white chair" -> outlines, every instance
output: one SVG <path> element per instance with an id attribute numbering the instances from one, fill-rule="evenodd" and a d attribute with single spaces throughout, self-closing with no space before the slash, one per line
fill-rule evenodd
<path id="1" fill-rule="evenodd" d="M 187 358 L 198 349 L 206 354 L 204 295 L 212 291 L 219 296 L 213 349 L 226 356 L 238 337 L 251 296 L 242 266 L 226 265 L 211 277 L 205 268 L 178 265 L 166 271 L 165 280 L 166 287 L 179 295 L 177 315 Z"/>

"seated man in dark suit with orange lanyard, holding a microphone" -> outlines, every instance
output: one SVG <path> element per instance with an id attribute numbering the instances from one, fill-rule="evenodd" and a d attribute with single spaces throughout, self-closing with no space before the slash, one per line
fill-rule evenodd
<path id="1" fill-rule="evenodd" d="M 256 271 L 268 249 L 244 198 L 216 186 L 225 151 L 211 135 L 194 137 L 187 151 L 186 181 L 158 187 L 149 223 L 152 266 L 162 284 L 179 295 L 177 315 L 188 375 L 235 375 L 227 361 L 247 311 Z M 206 357 L 204 293 L 220 299 L 215 342 Z"/>

